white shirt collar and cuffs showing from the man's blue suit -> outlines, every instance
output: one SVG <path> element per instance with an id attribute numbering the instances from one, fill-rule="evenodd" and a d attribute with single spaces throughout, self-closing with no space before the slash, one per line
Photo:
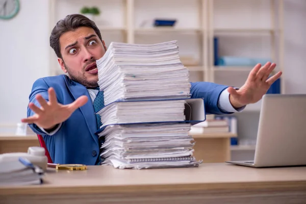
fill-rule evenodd
<path id="1" fill-rule="evenodd" d="M 98 94 L 98 91 L 99 91 L 99 90 L 96 90 L 96 89 L 87 89 L 87 90 L 88 90 L 90 99 L 91 99 L 92 104 L 93 104 L 93 101 L 94 101 L 96 95 Z M 244 106 L 244 107 L 241 107 L 241 108 L 239 108 L 239 109 L 235 109 L 235 108 L 232 106 L 232 104 L 231 104 L 231 102 L 230 102 L 230 93 L 227 91 L 227 89 L 224 89 L 224 90 L 221 92 L 220 97 L 219 97 L 219 100 L 218 100 L 218 107 L 219 107 L 219 109 L 221 109 L 221 111 L 223 111 L 223 112 L 231 112 L 231 113 L 232 113 L 232 112 L 241 112 L 241 111 L 243 111 L 243 109 L 245 108 L 245 106 Z M 47 135 L 54 135 L 54 134 L 56 134 L 56 133 L 58 132 L 58 130 L 60 130 L 61 126 L 62 126 L 62 123 L 60 123 L 60 124 L 58 125 L 58 127 L 57 127 L 54 131 L 52 131 L 52 132 L 50 132 L 50 133 L 46 132 L 46 131 L 45 131 L 44 129 L 42 129 L 41 127 L 39 127 L 39 129 L 40 129 L 42 132 L 44 132 L 45 134 L 47 134 Z"/>

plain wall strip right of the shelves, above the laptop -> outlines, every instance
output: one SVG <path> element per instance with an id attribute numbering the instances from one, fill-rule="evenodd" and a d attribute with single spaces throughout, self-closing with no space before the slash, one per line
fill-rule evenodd
<path id="1" fill-rule="evenodd" d="M 306 93 L 306 1 L 284 2 L 286 93 Z"/>

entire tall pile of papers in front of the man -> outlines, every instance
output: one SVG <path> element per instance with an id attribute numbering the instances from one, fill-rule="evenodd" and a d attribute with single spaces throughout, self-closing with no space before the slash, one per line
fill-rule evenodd
<path id="1" fill-rule="evenodd" d="M 195 167 L 188 69 L 176 41 L 140 45 L 112 42 L 97 60 L 105 106 L 102 165 L 115 168 Z M 203 99 L 199 104 L 203 105 Z M 189 110 L 188 113 L 192 111 Z M 203 113 L 204 114 L 204 113 Z M 186 116 L 187 115 L 187 116 Z"/>

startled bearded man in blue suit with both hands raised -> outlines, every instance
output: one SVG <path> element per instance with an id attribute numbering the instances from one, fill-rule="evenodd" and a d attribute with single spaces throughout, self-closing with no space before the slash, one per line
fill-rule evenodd
<path id="1" fill-rule="evenodd" d="M 94 165 L 99 161 L 98 127 L 93 103 L 96 90 L 96 60 L 107 47 L 95 23 L 83 15 L 68 15 L 50 35 L 50 46 L 67 75 L 38 79 L 30 94 L 28 118 L 32 130 L 43 136 L 55 163 Z M 256 65 L 240 89 L 208 82 L 191 83 L 191 97 L 205 98 L 208 114 L 230 114 L 256 103 L 281 72 L 269 78 L 274 63 Z"/>

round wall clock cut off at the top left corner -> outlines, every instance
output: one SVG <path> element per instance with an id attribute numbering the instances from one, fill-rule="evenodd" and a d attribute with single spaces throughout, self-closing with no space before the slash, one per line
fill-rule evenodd
<path id="1" fill-rule="evenodd" d="M 19 0 L 0 0 L 0 19 L 11 19 L 19 12 Z"/>

